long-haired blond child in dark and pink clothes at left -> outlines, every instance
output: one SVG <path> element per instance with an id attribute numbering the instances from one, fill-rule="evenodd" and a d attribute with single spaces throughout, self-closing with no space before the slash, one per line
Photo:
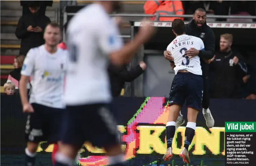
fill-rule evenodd
<path id="1" fill-rule="evenodd" d="M 24 55 L 18 55 L 14 58 L 14 70 L 8 75 L 7 82 L 12 82 L 15 85 L 15 89 L 19 89 L 20 72 L 25 59 Z M 30 83 L 28 83 L 27 88 L 30 89 Z"/>

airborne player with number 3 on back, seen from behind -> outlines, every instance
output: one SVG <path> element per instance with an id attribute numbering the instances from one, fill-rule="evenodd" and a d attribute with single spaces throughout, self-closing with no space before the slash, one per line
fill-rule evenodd
<path id="1" fill-rule="evenodd" d="M 204 50 L 204 44 L 201 39 L 185 34 L 185 24 L 180 19 L 175 19 L 172 22 L 172 31 L 176 38 L 168 45 L 167 51 L 171 52 L 174 59 L 171 66 L 175 65 L 175 77 L 172 81 L 168 102 L 170 112 L 166 123 L 167 150 L 163 159 L 169 161 L 173 155 L 171 146 L 175 135 L 175 121 L 186 101 L 188 122 L 185 130 L 185 143 L 180 157 L 185 163 L 189 163 L 188 146 L 195 135 L 197 114 L 202 110 L 203 79 L 199 56 L 190 58 L 184 55 L 184 51 L 190 48 Z"/>

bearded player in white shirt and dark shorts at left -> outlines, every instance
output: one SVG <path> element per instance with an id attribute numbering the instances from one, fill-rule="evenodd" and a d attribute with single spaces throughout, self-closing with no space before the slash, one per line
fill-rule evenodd
<path id="1" fill-rule="evenodd" d="M 61 39 L 58 24 L 47 25 L 43 34 L 45 44 L 29 50 L 24 60 L 20 97 L 23 112 L 29 113 L 25 136 L 25 166 L 35 164 L 36 150 L 40 141 L 56 143 L 59 140 L 62 113 L 63 77 L 68 52 L 57 48 Z M 28 101 L 26 84 L 32 77 L 32 93 Z"/>

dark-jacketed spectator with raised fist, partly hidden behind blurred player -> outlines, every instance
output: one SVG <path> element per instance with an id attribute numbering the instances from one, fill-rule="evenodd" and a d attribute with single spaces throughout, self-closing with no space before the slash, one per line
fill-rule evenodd
<path id="1" fill-rule="evenodd" d="M 146 70 L 146 64 L 140 62 L 140 64 L 130 71 L 127 70 L 126 66 L 115 66 L 110 64 L 108 67 L 111 93 L 113 97 L 118 97 L 124 88 L 125 82 L 131 82 L 137 77 L 139 77 Z"/>

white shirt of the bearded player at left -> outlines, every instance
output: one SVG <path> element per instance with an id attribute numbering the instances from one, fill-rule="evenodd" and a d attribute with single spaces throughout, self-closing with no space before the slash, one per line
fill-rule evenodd
<path id="1" fill-rule="evenodd" d="M 51 54 L 44 45 L 29 50 L 21 75 L 32 77 L 30 103 L 65 108 L 62 95 L 67 57 L 66 50 L 58 48 L 57 52 Z"/>

